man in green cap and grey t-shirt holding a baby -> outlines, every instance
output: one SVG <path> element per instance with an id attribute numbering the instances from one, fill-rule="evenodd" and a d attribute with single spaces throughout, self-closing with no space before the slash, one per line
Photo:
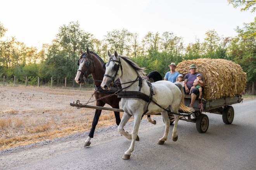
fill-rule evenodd
<path id="1" fill-rule="evenodd" d="M 205 86 L 205 82 L 204 82 L 204 78 L 202 77 L 202 83 L 201 82 L 195 82 L 194 83 L 194 80 L 197 79 L 197 75 L 199 73 L 196 72 L 196 66 L 194 64 L 190 65 L 189 66 L 189 71 L 190 73 L 187 73 L 185 75 L 185 78 L 184 78 L 184 87 L 185 87 L 185 92 L 186 93 L 189 93 L 190 91 L 190 88 L 193 87 L 193 86 Z M 190 107 L 194 107 L 194 102 L 195 102 L 195 99 L 196 99 L 196 96 L 197 94 L 199 93 L 199 90 L 197 88 L 193 88 L 191 90 L 191 102 L 189 104 Z"/>

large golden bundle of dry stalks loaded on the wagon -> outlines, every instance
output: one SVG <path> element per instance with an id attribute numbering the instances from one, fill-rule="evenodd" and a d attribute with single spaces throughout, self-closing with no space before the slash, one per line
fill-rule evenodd
<path id="1" fill-rule="evenodd" d="M 241 95 L 246 87 L 246 73 L 240 65 L 226 59 L 193 59 L 184 60 L 177 65 L 176 70 L 184 76 L 190 73 L 189 66 L 195 64 L 197 72 L 204 77 L 203 98 L 206 100 L 220 99 Z"/>

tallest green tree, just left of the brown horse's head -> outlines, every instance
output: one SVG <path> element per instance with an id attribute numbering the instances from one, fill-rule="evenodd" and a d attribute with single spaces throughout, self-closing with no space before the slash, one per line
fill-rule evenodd
<path id="1" fill-rule="evenodd" d="M 93 51 L 94 39 L 92 34 L 80 28 L 78 21 L 61 26 L 56 38 L 47 49 L 45 63 L 50 65 L 47 76 L 54 76 L 56 83 L 60 83 L 65 77 L 73 80 L 77 70 L 76 62 L 81 55 L 80 50 L 85 51 L 89 48 Z"/>

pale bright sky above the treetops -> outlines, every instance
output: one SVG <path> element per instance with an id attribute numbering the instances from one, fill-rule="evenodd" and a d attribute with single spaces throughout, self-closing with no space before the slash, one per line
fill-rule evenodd
<path id="1" fill-rule="evenodd" d="M 81 29 L 102 40 L 107 32 L 123 28 L 137 32 L 173 32 L 187 45 L 204 41 L 214 29 L 219 36 L 236 36 L 235 28 L 254 21 L 256 13 L 240 12 L 227 0 L 4 0 L 0 22 L 27 46 L 51 43 L 59 27 L 78 21 Z"/>

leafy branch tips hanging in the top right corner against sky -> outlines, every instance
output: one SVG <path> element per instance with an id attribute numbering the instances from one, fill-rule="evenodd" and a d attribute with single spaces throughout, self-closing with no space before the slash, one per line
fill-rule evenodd
<path id="1" fill-rule="evenodd" d="M 234 8 L 242 7 L 240 11 L 246 11 L 251 9 L 251 12 L 255 12 L 256 10 L 256 0 L 228 0 L 229 4 L 232 4 Z"/>

